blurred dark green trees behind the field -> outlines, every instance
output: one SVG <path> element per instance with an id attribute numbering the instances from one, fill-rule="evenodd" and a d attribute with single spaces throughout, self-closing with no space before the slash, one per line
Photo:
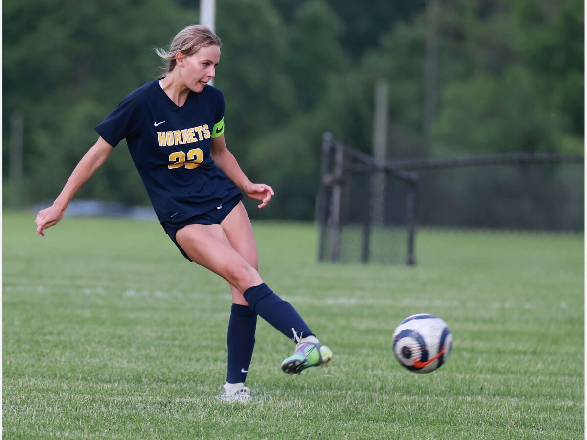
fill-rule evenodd
<path id="1" fill-rule="evenodd" d="M 198 23 L 198 8 L 3 3 L 5 207 L 55 199 L 95 143 L 93 127 L 158 75 L 153 47 Z M 228 147 L 278 195 L 264 217 L 313 218 L 324 131 L 371 151 L 380 79 L 390 85 L 392 158 L 583 153 L 582 0 L 218 0 L 216 31 Z M 120 150 L 124 142 L 76 199 L 149 204 Z"/>

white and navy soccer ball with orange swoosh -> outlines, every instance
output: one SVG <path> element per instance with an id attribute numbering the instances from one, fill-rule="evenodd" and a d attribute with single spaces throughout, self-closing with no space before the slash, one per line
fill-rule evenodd
<path id="1" fill-rule="evenodd" d="M 407 317 L 393 332 L 393 354 L 414 373 L 430 373 L 444 364 L 453 346 L 446 322 L 431 314 Z"/>

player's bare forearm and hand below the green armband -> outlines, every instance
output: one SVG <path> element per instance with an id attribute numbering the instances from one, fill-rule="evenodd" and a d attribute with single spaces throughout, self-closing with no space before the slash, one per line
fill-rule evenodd
<path id="1" fill-rule="evenodd" d="M 273 188 L 265 184 L 254 184 L 248 180 L 241 167 L 238 165 L 234 155 L 226 146 L 224 141 L 224 134 L 218 137 L 212 138 L 212 149 L 210 151 L 214 163 L 220 168 L 224 174 L 228 176 L 230 180 L 241 189 L 242 192 L 247 194 L 249 197 L 255 200 L 261 201 L 258 208 L 265 208 L 271 200 L 271 197 L 275 195 Z"/>

